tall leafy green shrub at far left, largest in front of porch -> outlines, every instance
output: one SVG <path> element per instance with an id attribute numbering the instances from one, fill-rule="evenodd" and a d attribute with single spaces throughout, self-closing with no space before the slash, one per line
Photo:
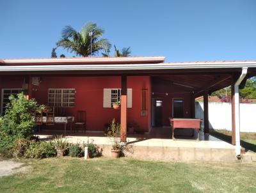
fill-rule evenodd
<path id="1" fill-rule="evenodd" d="M 15 152 L 15 142 L 19 139 L 30 139 L 33 134 L 35 121 L 33 114 L 36 110 L 42 110 L 44 106 L 38 106 L 34 99 L 26 100 L 23 93 L 9 97 L 10 103 L 6 105 L 6 111 L 0 118 L 0 153 L 9 156 Z M 16 152 L 17 153 L 17 152 Z"/>

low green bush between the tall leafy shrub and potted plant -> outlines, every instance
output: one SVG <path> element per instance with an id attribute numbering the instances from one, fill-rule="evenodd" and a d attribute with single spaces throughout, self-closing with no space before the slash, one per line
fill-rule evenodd
<path id="1" fill-rule="evenodd" d="M 51 141 L 38 141 L 32 142 L 24 155 L 26 158 L 48 158 L 56 156 L 56 150 Z"/>

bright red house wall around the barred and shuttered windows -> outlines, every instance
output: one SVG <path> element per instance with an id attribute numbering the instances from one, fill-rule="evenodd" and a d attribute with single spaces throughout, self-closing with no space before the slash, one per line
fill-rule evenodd
<path id="1" fill-rule="evenodd" d="M 39 104 L 47 104 L 49 88 L 75 88 L 76 107 L 66 107 L 65 114 L 76 116 L 86 111 L 86 129 L 104 130 L 104 124 L 116 118 L 120 122 L 120 110 L 103 107 L 103 89 L 121 88 L 121 77 L 42 77 L 40 86 L 33 86 L 32 98 Z M 0 88 L 21 88 L 23 77 L 1 79 Z M 132 88 L 132 108 L 127 109 L 127 122 L 135 121 L 148 132 L 149 116 L 141 116 L 141 89 L 150 88 L 150 77 L 127 77 L 127 88 Z M 149 94 L 148 94 L 149 95 Z M 58 127 L 58 126 L 54 126 Z"/>

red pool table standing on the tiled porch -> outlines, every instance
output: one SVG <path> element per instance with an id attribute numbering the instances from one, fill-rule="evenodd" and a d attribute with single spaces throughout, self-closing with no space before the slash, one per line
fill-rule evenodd
<path id="1" fill-rule="evenodd" d="M 196 140 L 199 141 L 199 130 L 202 120 L 200 119 L 186 119 L 186 118 L 170 118 L 170 124 L 172 127 L 172 139 L 175 140 L 174 130 L 176 128 L 191 128 L 197 132 Z"/>

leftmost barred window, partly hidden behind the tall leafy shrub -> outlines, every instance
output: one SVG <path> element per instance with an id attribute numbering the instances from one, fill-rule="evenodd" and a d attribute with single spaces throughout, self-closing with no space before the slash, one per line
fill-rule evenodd
<path id="1" fill-rule="evenodd" d="M 22 88 L 3 88 L 1 94 L 1 114 L 4 114 L 6 109 L 6 104 L 10 102 L 10 95 L 17 95 L 22 92 Z"/>

